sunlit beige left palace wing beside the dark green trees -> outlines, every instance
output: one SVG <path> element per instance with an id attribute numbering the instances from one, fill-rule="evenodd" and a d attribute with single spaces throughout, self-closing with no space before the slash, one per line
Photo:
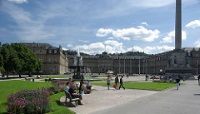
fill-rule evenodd
<path id="1" fill-rule="evenodd" d="M 64 74 L 68 72 L 68 57 L 62 47 L 54 47 L 47 43 L 23 43 L 37 55 L 43 66 L 41 74 Z"/>

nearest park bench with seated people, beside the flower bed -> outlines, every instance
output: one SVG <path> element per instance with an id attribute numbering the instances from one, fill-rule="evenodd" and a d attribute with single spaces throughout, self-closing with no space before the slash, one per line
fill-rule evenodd
<path id="1" fill-rule="evenodd" d="M 67 91 L 65 91 L 65 96 L 62 96 L 60 98 L 60 102 L 65 105 L 76 107 L 78 105 L 78 102 L 80 101 L 79 98 L 72 98 L 71 94 Z M 73 104 L 74 103 L 74 104 Z"/>

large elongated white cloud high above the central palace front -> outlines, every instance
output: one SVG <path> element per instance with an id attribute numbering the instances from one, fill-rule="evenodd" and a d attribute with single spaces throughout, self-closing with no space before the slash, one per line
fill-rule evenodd
<path id="1" fill-rule="evenodd" d="M 125 29 L 104 29 L 100 28 L 96 36 L 107 37 L 111 36 L 114 38 L 121 38 L 123 40 L 143 40 L 147 42 L 152 42 L 159 37 L 160 31 L 149 30 L 143 26 L 138 26 L 136 28 L 125 28 Z"/>

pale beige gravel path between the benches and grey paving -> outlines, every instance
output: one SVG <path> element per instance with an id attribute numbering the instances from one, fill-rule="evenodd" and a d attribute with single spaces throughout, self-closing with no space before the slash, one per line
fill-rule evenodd
<path id="1" fill-rule="evenodd" d="M 141 77 L 137 79 L 138 80 L 135 78 L 124 78 L 124 81 L 143 80 Z M 93 90 L 91 94 L 83 95 L 83 105 L 69 107 L 69 109 L 77 114 L 90 114 L 95 113 L 96 111 L 119 106 L 124 103 L 133 102 L 138 98 L 157 93 L 155 91 L 133 89 L 115 90 L 114 88 L 111 88 L 110 90 L 107 90 L 106 87 L 102 86 L 94 86 L 94 89 L 95 90 Z"/>

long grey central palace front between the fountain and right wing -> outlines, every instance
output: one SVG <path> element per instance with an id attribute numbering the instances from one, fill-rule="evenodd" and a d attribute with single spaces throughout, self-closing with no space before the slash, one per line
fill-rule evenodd
<path id="1" fill-rule="evenodd" d="M 70 57 L 69 66 L 73 65 L 73 58 L 73 56 Z M 140 74 L 143 72 L 141 69 L 143 58 L 143 56 L 110 56 L 107 54 L 83 56 L 84 70 L 82 72 L 100 74 L 112 70 L 117 74 Z"/>

